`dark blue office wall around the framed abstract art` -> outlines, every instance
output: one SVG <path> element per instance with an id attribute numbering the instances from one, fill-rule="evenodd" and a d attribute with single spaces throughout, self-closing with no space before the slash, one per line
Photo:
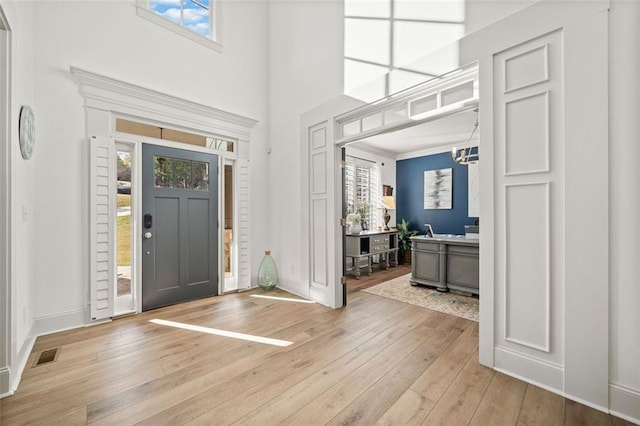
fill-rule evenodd
<path id="1" fill-rule="evenodd" d="M 424 172 L 453 169 L 453 202 L 450 210 L 424 209 Z M 464 234 L 464 225 L 473 225 L 477 218 L 468 215 L 469 168 L 456 164 L 450 152 L 396 162 L 396 218 L 404 218 L 409 227 L 425 233 L 429 223 L 436 234 Z"/>

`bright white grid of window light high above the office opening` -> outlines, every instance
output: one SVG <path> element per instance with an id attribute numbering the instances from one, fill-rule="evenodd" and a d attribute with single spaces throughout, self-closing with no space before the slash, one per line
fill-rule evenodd
<path id="1" fill-rule="evenodd" d="M 345 0 L 345 93 L 375 81 L 380 99 L 457 68 L 415 61 L 463 37 L 464 19 L 465 0 Z"/>

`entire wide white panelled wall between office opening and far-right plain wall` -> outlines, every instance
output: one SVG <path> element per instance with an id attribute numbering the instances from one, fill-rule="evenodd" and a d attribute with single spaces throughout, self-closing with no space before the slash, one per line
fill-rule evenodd
<path id="1" fill-rule="evenodd" d="M 462 51 L 480 69 L 480 361 L 606 410 L 606 3 L 536 3 Z"/>

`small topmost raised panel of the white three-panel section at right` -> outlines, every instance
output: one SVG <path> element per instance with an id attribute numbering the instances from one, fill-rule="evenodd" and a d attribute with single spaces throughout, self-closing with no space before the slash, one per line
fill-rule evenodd
<path id="1" fill-rule="evenodd" d="M 547 45 L 527 50 L 504 61 L 505 93 L 549 80 Z"/>

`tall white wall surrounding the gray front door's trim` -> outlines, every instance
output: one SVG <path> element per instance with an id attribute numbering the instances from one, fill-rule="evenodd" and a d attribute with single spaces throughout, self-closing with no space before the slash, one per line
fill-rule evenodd
<path id="1" fill-rule="evenodd" d="M 221 13 L 220 54 L 139 18 L 133 2 L 35 4 L 39 136 L 30 178 L 37 188 L 32 220 L 38 237 L 29 270 L 35 271 L 38 332 L 77 325 L 87 308 L 88 145 L 70 66 L 259 120 L 250 143 L 251 237 L 254 249 L 264 245 L 267 5 L 224 2 Z"/>

